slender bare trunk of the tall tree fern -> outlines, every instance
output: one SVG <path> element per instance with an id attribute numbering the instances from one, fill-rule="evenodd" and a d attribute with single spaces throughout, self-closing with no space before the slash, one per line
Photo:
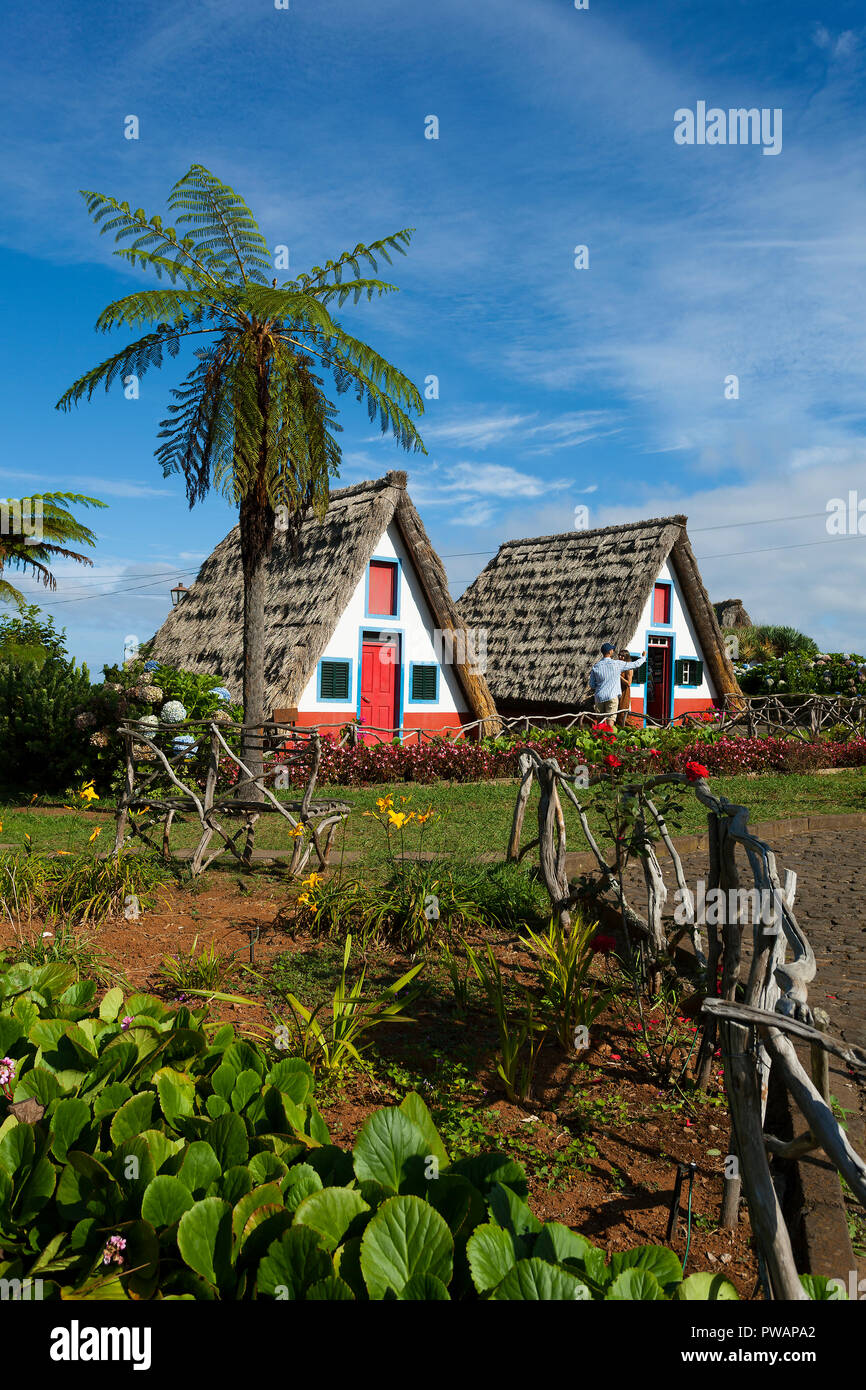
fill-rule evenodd
<path id="1" fill-rule="evenodd" d="M 243 723 L 259 728 L 270 710 L 265 706 L 264 598 L 267 559 L 274 539 L 274 512 L 267 502 L 247 496 L 240 503 L 240 564 L 243 567 Z M 243 735 L 240 756 L 253 776 L 263 769 L 261 737 L 256 730 Z M 250 787 L 245 801 L 261 801 Z"/>

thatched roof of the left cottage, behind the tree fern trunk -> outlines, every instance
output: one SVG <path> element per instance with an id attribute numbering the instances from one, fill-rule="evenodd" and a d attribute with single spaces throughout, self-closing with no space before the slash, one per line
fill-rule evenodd
<path id="1" fill-rule="evenodd" d="M 267 564 L 265 698 L 271 709 L 293 708 L 363 578 L 375 545 L 396 521 L 414 562 L 434 623 L 463 627 L 442 562 L 406 492 L 406 474 L 389 473 L 331 493 L 322 521 L 307 518 L 296 557 L 278 532 Z M 456 644 L 457 651 L 460 645 Z M 466 651 L 466 645 L 464 645 Z M 152 655 L 190 671 L 218 674 L 235 698 L 243 684 L 243 582 L 239 528 L 220 542 L 196 582 L 153 638 Z M 471 652 L 470 652 L 471 655 Z M 495 714 L 484 677 L 455 664 L 475 719 Z"/>

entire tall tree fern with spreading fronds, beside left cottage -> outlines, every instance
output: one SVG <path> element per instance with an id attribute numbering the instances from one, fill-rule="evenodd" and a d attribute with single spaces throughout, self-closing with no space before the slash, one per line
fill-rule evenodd
<path id="1" fill-rule="evenodd" d="M 182 473 L 190 507 L 217 488 L 239 507 L 243 567 L 243 709 L 246 724 L 265 719 L 264 577 L 277 523 L 285 509 L 295 542 L 300 521 L 328 506 L 329 478 L 339 468 L 336 407 L 318 373 L 338 393 L 353 389 L 382 432 L 392 431 L 405 449 L 424 450 L 410 411 L 423 413 L 411 381 L 352 338 L 328 306 L 354 303 L 396 289 L 361 275 L 377 257 L 405 254 L 411 228 L 368 246 L 356 246 L 324 267 L 277 285 L 274 261 L 253 214 L 231 188 L 203 165 L 174 185 L 168 208 L 178 227 L 164 227 L 128 203 L 83 192 L 101 232 L 129 245 L 114 254 L 167 275 L 174 288 L 150 289 L 108 304 L 96 327 L 142 328 L 143 336 L 81 377 L 58 400 L 68 410 L 104 384 L 140 377 L 175 357 L 189 341 L 196 363 L 163 421 L 156 450 L 165 477 Z M 343 279 L 350 272 L 350 278 Z M 178 284 L 181 282 L 181 284 Z M 259 770 L 254 735 L 247 735 L 247 766 Z"/>

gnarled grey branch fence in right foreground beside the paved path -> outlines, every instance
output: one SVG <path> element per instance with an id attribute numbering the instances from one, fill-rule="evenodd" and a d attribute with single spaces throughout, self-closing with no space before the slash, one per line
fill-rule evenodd
<path id="1" fill-rule="evenodd" d="M 695 1080 L 702 1088 L 709 1083 L 710 1065 L 717 1044 L 721 1048 L 724 1086 L 731 1116 L 728 1152 L 737 1158 L 738 1175 L 726 1176 L 721 1225 L 737 1223 L 741 1188 L 749 1208 L 752 1232 L 759 1255 L 765 1291 L 770 1298 L 806 1300 L 796 1272 L 791 1237 L 785 1226 L 769 1155 L 796 1158 L 822 1150 L 845 1177 L 851 1191 L 866 1207 L 866 1163 L 853 1151 L 835 1119 L 828 1090 L 828 1054 L 842 1058 L 849 1068 L 866 1077 L 866 1049 L 851 1047 L 827 1033 L 823 1011 L 812 1011 L 808 990 L 815 977 L 815 954 L 794 912 L 796 874 L 780 877 L 776 855 L 748 828 L 749 812 L 724 796 L 716 796 L 705 778 L 689 780 L 681 773 L 651 777 L 644 784 L 623 784 L 623 794 L 632 795 L 639 808 L 638 845 L 646 890 L 646 912 L 628 902 L 623 873 L 628 849 L 613 847 L 607 862 L 580 801 L 573 778 L 562 771 L 556 759 L 542 759 L 534 749 L 520 753 L 521 781 L 507 847 L 510 860 L 521 859 L 538 848 L 539 869 L 552 905 L 566 926 L 580 901 L 580 891 L 566 874 L 566 819 L 562 796 L 577 810 L 578 823 L 598 863 L 595 888 L 602 901 L 620 912 L 627 933 L 644 944 L 649 962 L 649 988 L 657 987 L 662 956 L 673 952 L 676 942 L 688 933 L 703 979 L 706 998 L 702 1004 L 703 1031 L 695 1063 Z M 538 781 L 538 834 L 523 845 L 521 830 L 532 784 Z M 709 834 L 708 888 L 721 890 L 720 922 L 706 924 L 703 945 L 695 913 L 695 898 L 687 887 L 680 855 L 669 834 L 664 817 L 652 799 L 655 787 L 664 783 L 688 784 L 706 808 Z M 562 795 L 560 795 L 562 794 Z M 670 856 L 684 908 L 685 926 L 669 933 L 664 920 L 667 887 L 655 845 Z M 748 860 L 753 890 L 741 891 L 735 858 L 737 845 Z M 758 910 L 755 910 L 758 908 Z M 714 913 L 713 913 L 714 916 Z M 744 958 L 744 929 L 752 929 L 752 949 Z M 788 958 L 788 952 L 791 954 Z M 794 1048 L 792 1038 L 810 1048 L 810 1073 Z M 785 1086 L 806 1130 L 784 1143 L 765 1133 L 770 1072 Z"/>

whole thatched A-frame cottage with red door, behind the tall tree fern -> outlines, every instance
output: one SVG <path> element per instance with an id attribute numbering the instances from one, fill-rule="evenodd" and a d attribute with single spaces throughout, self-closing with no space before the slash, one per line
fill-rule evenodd
<path id="1" fill-rule="evenodd" d="M 215 548 L 153 639 L 152 655 L 243 674 L 238 527 Z M 278 532 L 268 562 L 265 691 L 274 719 L 339 728 L 457 730 L 495 706 L 448 589 L 442 562 L 389 473 L 331 493 L 303 523 L 297 555 Z"/>

